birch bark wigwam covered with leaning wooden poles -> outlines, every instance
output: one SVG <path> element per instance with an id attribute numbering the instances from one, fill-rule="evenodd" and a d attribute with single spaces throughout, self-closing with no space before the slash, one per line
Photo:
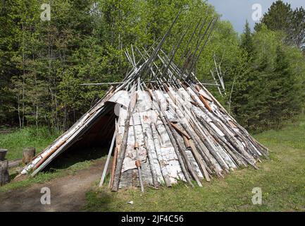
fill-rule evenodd
<path id="1" fill-rule="evenodd" d="M 107 184 L 111 191 L 130 186 L 144 191 L 144 186 L 172 186 L 179 181 L 204 186 L 204 180 L 225 177 L 239 167 L 258 168 L 256 162 L 268 157 L 268 149 L 226 112 L 194 73 L 217 18 L 200 19 L 194 30 L 186 28 L 167 55 L 162 47 L 179 16 L 158 43 L 149 49 L 132 46 L 126 52 L 132 69 L 123 81 L 109 83 L 113 86 L 106 95 L 36 155 L 23 174 L 31 172 L 35 176 L 58 155 L 73 148 L 94 126 L 103 131 L 100 139 L 112 138 L 100 183 L 106 184 L 106 169 L 111 162 Z M 175 64 L 178 52 L 185 55 Z M 109 114 L 112 117 L 101 123 Z"/>

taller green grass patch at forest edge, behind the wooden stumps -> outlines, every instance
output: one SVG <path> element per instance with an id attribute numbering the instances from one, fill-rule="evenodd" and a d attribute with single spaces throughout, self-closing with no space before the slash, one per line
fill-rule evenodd
<path id="1" fill-rule="evenodd" d="M 46 127 L 26 127 L 16 129 L 11 133 L 0 133 L 0 148 L 8 149 L 6 159 L 15 160 L 23 157 L 23 148 L 36 148 L 36 153 L 41 152 L 59 133 L 50 132 Z"/>

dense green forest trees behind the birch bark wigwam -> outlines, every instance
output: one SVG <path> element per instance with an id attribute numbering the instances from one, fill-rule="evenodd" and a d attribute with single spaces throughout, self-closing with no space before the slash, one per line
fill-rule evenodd
<path id="1" fill-rule="evenodd" d="M 211 18 L 218 16 L 213 6 L 194 0 L 49 3 L 51 20 L 42 21 L 42 1 L 1 2 L 0 124 L 68 129 L 108 89 L 107 85 L 80 84 L 121 81 L 129 66 L 124 51 L 130 44 L 149 48 L 183 8 L 163 46 L 170 52 L 187 28 L 194 30 L 199 18 L 206 20 L 205 29 Z M 282 18 L 280 13 L 284 13 Z M 278 116 L 290 117 L 300 112 L 300 105 L 305 105 L 300 92 L 305 83 L 304 57 L 299 49 L 282 42 L 291 37 L 299 48 L 304 47 L 304 9 L 292 11 L 289 4 L 277 1 L 256 27 L 256 32 L 251 33 L 246 23 L 239 38 L 230 22 L 218 20 L 195 66 L 197 77 L 211 82 L 211 70 L 215 70 L 212 56 L 216 56 L 226 93 L 222 96 L 217 88 L 209 89 L 230 113 L 253 130 L 277 124 L 270 117 L 271 84 L 280 84 L 282 93 L 278 97 L 287 97 L 281 107 L 288 107 L 285 103 L 292 100 L 293 93 L 299 95 L 290 103 L 290 109 L 281 109 Z M 187 32 L 175 55 L 178 66 L 183 64 L 180 57 L 187 55 L 182 49 L 191 35 Z M 195 41 L 190 44 L 195 45 Z M 278 46 L 287 66 L 283 74 L 275 72 Z"/>

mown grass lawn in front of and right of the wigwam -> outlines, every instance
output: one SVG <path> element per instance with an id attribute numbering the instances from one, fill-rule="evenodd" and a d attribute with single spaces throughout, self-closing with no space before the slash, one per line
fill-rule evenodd
<path id="1" fill-rule="evenodd" d="M 270 148 L 270 160 L 258 170 L 240 169 L 225 179 L 204 182 L 202 188 L 177 184 L 171 189 L 146 189 L 144 194 L 138 189 L 111 193 L 96 188 L 87 193 L 85 210 L 305 211 L 305 117 L 255 137 Z M 261 205 L 251 202 L 254 187 L 263 192 Z"/>

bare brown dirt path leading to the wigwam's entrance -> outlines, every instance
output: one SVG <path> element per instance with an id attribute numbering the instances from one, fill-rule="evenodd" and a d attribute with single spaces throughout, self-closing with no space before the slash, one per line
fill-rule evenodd
<path id="1" fill-rule="evenodd" d="M 104 162 L 99 161 L 87 169 L 80 169 L 74 175 L 0 194 L 0 211 L 80 211 L 85 205 L 86 192 L 101 177 Z M 51 191 L 50 205 L 40 202 L 44 195 L 40 193 L 43 187 Z"/>

